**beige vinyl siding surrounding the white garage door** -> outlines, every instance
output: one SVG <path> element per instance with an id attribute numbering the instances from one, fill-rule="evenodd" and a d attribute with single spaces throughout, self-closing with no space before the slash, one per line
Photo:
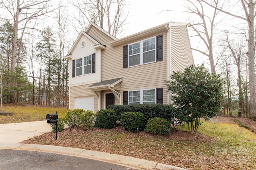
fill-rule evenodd
<path id="1" fill-rule="evenodd" d="M 94 112 L 96 113 L 98 111 L 98 98 L 96 97 L 96 95 L 94 95 L 94 92 L 85 89 L 90 85 L 91 84 L 70 87 L 70 91 L 72 92 L 70 93 L 70 109 L 74 109 L 74 98 L 94 96 Z"/>

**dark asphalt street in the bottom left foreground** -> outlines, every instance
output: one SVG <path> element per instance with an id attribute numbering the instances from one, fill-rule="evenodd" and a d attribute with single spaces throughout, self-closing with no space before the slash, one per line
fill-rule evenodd
<path id="1" fill-rule="evenodd" d="M 77 156 L 0 149 L 1 170 L 127 170 L 127 167 Z M 131 169 L 131 168 L 128 168 Z"/>

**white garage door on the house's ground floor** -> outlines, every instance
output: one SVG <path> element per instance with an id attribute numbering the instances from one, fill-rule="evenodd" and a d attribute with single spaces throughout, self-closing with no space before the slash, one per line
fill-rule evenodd
<path id="1" fill-rule="evenodd" d="M 94 96 L 75 98 L 74 108 L 92 110 L 94 112 Z"/>

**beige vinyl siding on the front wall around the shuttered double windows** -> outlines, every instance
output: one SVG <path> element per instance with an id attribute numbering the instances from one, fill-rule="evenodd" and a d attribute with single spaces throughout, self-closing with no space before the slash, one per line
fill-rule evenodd
<path id="1" fill-rule="evenodd" d="M 115 48 L 107 46 L 102 55 L 102 80 L 122 77 L 121 90 L 118 91 L 121 95 L 127 90 L 163 88 L 163 102 L 166 104 L 167 93 L 164 80 L 167 80 L 167 33 L 157 35 L 161 34 L 163 34 L 163 61 L 123 68 L 123 46 Z M 121 103 L 123 104 L 123 97 Z M 116 100 L 116 104 L 119 104 L 119 101 Z"/>

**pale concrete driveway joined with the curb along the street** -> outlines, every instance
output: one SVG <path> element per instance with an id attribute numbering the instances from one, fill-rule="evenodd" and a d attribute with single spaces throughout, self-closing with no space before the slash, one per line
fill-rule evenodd
<path id="1" fill-rule="evenodd" d="M 140 170 L 142 168 L 153 169 L 168 169 L 168 170 L 185 170 L 176 166 L 161 164 L 149 160 L 133 158 L 129 156 L 122 156 L 117 154 L 110 154 L 106 152 L 98 152 L 93 150 L 58 147 L 51 145 L 36 145 L 36 144 L 22 144 L 26 139 L 34 136 L 42 135 L 50 132 L 51 127 L 46 121 L 34 121 L 23 123 L 9 123 L 0 124 L 0 149 L 15 149 L 15 150 L 30 150 L 39 152 L 49 152 L 64 154 L 69 156 L 78 156 L 93 160 L 99 160 L 128 168 Z"/>

